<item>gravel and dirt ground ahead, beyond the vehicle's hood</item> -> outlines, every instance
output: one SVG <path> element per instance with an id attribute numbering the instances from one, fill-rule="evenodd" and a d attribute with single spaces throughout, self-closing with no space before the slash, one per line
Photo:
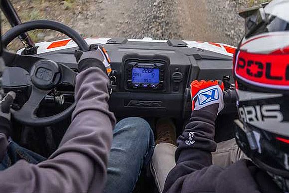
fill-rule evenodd
<path id="1" fill-rule="evenodd" d="M 237 45 L 248 0 L 12 0 L 22 21 L 52 19 L 86 37 L 187 39 Z M 2 19 L 3 20 L 3 19 Z M 3 31 L 9 28 L 6 22 Z M 32 33 L 35 41 L 63 38 Z"/>

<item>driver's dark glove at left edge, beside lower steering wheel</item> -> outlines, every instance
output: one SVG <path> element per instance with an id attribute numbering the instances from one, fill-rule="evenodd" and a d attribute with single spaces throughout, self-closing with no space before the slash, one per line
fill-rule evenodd
<path id="1" fill-rule="evenodd" d="M 9 92 L 6 97 L 0 101 L 0 133 L 4 133 L 7 137 L 11 134 L 11 105 L 14 102 L 16 93 Z"/>

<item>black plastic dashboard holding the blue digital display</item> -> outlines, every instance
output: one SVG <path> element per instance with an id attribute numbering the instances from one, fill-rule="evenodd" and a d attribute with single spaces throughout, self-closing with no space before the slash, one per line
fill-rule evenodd
<path id="1" fill-rule="evenodd" d="M 189 85 L 192 80 L 215 80 L 232 75 L 232 57 L 200 48 L 184 41 L 128 41 L 112 38 L 103 44 L 111 59 L 112 94 L 110 108 L 117 117 L 185 118 L 191 111 Z M 75 48 L 39 54 L 77 71 Z M 19 69 L 8 69 L 9 77 L 25 77 Z M 4 79 L 4 78 L 3 78 Z M 6 79 L 12 89 L 27 82 Z M 224 110 L 226 113 L 226 110 Z"/>

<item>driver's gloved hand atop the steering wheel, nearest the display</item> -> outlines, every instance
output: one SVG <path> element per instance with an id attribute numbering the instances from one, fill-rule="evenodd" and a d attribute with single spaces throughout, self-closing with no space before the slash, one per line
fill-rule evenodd
<path id="1" fill-rule="evenodd" d="M 93 66 L 101 68 L 108 75 L 112 71 L 106 50 L 97 44 L 90 45 L 89 51 L 75 50 L 74 56 L 78 62 L 79 72 Z"/>

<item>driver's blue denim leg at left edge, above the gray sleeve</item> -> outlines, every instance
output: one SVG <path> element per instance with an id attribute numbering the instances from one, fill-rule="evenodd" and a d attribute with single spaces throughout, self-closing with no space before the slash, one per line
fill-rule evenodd
<path id="1" fill-rule="evenodd" d="M 0 171 L 9 168 L 21 159 L 24 159 L 31 164 L 38 164 L 39 162 L 46 160 L 46 158 L 43 156 L 23 148 L 13 141 L 10 141 L 7 153 L 0 163 Z"/>

